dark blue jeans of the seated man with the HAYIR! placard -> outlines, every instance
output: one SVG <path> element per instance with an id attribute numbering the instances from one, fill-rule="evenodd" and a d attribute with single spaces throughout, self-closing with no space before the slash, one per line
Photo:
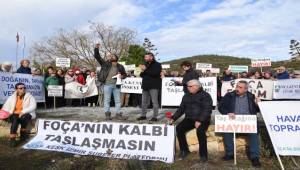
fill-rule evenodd
<path id="1" fill-rule="evenodd" d="M 259 140 L 257 133 L 249 133 L 247 134 L 248 140 L 250 142 L 249 151 L 250 151 L 250 158 L 259 158 Z M 226 155 L 233 155 L 234 146 L 233 146 L 233 134 L 232 133 L 224 133 L 224 144 L 225 144 L 225 151 Z"/>

